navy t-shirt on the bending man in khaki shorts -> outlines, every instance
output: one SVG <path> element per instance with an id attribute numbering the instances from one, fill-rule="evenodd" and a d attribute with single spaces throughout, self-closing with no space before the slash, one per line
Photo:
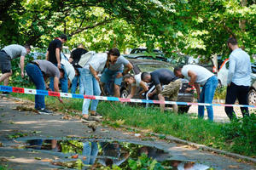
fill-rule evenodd
<path id="1" fill-rule="evenodd" d="M 158 69 L 150 73 L 154 85 L 166 85 L 177 80 L 174 73 L 168 69 Z"/>

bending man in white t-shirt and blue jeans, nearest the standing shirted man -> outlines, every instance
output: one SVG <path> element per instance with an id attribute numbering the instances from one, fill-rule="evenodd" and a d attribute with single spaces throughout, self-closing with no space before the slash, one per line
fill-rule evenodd
<path id="1" fill-rule="evenodd" d="M 218 86 L 218 78 L 208 71 L 206 68 L 200 65 L 183 65 L 183 67 L 176 67 L 174 74 L 180 78 L 186 78 L 189 80 L 191 86 L 195 86 L 197 92 L 197 99 L 199 103 L 212 104 L 212 99 L 215 90 Z M 203 87 L 200 89 L 200 85 Z M 187 88 L 186 91 L 190 91 L 191 88 Z M 204 117 L 205 106 L 198 106 L 198 117 Z M 212 105 L 207 106 L 208 119 L 213 121 Z"/>

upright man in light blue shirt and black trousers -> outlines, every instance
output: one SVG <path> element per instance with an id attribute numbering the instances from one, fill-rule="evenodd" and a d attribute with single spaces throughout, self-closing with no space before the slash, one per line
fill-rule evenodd
<path id="1" fill-rule="evenodd" d="M 228 39 L 228 47 L 232 51 L 230 54 L 230 68 L 228 74 L 228 87 L 226 94 L 226 104 L 235 104 L 236 98 L 240 105 L 248 105 L 247 97 L 251 85 L 251 61 L 250 56 L 238 47 L 235 37 Z M 230 120 L 236 119 L 233 107 L 225 107 L 225 112 Z M 248 116 L 247 107 L 241 107 L 242 116 Z"/>

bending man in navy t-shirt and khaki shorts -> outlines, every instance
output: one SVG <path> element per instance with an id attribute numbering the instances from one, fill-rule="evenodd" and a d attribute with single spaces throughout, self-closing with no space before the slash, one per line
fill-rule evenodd
<path id="1" fill-rule="evenodd" d="M 175 77 L 174 73 L 168 69 L 158 69 L 151 73 L 143 72 L 142 73 L 143 82 L 152 82 L 155 86 L 155 89 L 152 93 L 148 94 L 148 97 L 153 96 L 154 94 L 158 95 L 160 101 L 165 101 L 165 96 L 171 100 L 177 100 L 177 94 L 179 88 L 181 87 L 181 81 Z M 162 86 L 166 85 L 164 90 Z M 172 105 L 173 111 L 177 112 L 177 105 Z M 160 110 L 165 111 L 165 104 L 160 104 Z"/>

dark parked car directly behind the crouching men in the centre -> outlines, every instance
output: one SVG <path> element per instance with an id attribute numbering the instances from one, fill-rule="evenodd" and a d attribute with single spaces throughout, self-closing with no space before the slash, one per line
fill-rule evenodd
<path id="1" fill-rule="evenodd" d="M 159 60 L 153 60 L 153 59 L 128 59 L 131 64 L 133 65 L 133 69 L 130 72 L 131 75 L 137 75 L 140 72 L 152 72 L 160 68 L 166 68 L 171 71 L 173 71 L 173 67 L 170 63 L 164 62 L 164 61 L 159 61 Z M 194 99 L 194 91 L 191 93 L 185 93 L 185 89 L 189 87 L 189 81 L 182 79 L 182 87 L 179 90 L 178 96 L 177 96 L 177 101 L 182 101 L 182 102 L 193 102 Z M 150 88 L 150 84 L 149 88 Z M 134 96 L 135 99 L 139 99 L 139 92 L 140 88 L 137 88 L 137 92 Z M 120 94 L 122 98 L 126 98 L 131 92 L 131 87 L 130 85 L 126 84 L 125 82 L 122 82 L 122 85 L 120 87 Z M 147 94 L 143 95 L 143 98 L 147 98 Z M 154 95 L 152 98 L 148 99 L 158 99 L 156 95 Z M 169 99 L 166 99 L 169 100 Z M 179 105 L 179 112 L 187 112 L 189 111 L 189 106 L 190 105 Z"/>

